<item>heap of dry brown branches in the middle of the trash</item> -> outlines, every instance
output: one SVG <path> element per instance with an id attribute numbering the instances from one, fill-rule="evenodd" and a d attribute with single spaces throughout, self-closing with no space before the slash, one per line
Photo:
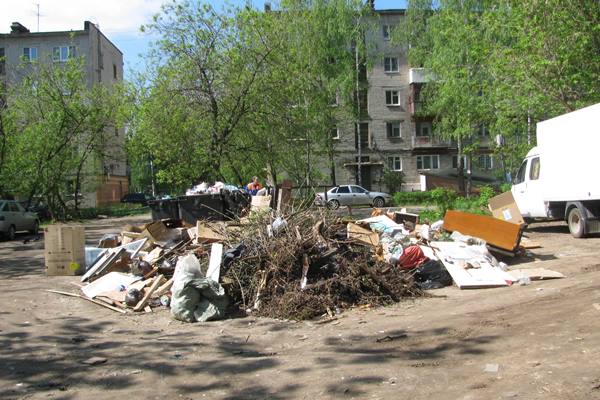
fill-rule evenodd
<path id="1" fill-rule="evenodd" d="M 347 239 L 346 223 L 331 212 L 305 210 L 284 220 L 277 227 L 262 214 L 222 232 L 226 244 L 239 250 L 222 269 L 238 307 L 260 316 L 302 320 L 423 294 L 410 274 L 377 261 L 370 246 Z"/>

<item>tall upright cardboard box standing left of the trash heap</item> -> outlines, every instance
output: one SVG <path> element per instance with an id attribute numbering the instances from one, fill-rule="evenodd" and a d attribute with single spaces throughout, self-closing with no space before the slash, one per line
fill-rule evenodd
<path id="1" fill-rule="evenodd" d="M 85 228 L 50 225 L 44 229 L 44 259 L 48 276 L 81 275 L 85 270 Z"/>

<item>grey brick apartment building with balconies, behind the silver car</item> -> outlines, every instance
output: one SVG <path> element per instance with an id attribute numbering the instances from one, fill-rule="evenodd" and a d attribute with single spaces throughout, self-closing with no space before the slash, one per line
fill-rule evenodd
<path id="1" fill-rule="evenodd" d="M 367 89 L 366 95 L 361 96 L 359 128 L 340 123 L 335 130 L 336 181 L 340 184 L 360 180 L 369 190 L 389 190 L 383 183 L 383 175 L 389 170 L 404 175 L 402 190 L 421 190 L 426 175 L 456 174 L 457 144 L 433 135 L 433 117 L 420 115 L 420 92 L 430 77 L 423 68 L 411 68 L 407 46 L 392 44 L 390 40 L 390 33 L 402 23 L 405 10 L 374 12 L 377 27 L 365 40 L 377 58 L 373 67 L 365 71 Z M 490 139 L 485 128 L 474 132 L 476 136 L 480 154 L 474 157 L 471 170 L 491 177 L 494 160 Z"/>

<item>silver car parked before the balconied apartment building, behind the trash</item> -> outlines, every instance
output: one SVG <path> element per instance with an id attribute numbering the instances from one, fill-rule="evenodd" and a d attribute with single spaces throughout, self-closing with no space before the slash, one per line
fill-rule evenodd
<path id="1" fill-rule="evenodd" d="M 358 185 L 341 185 L 336 186 L 325 193 L 317 193 L 315 204 L 338 209 L 340 206 L 373 206 L 385 207 L 390 204 L 392 196 L 383 192 L 371 192 Z"/>

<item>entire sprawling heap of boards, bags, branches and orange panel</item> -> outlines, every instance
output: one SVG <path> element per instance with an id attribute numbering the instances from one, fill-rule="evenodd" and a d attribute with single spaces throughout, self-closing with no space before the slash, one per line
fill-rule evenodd
<path id="1" fill-rule="evenodd" d="M 254 196 L 242 216 L 225 221 L 190 221 L 190 208 L 186 218 L 126 225 L 82 250 L 85 257 L 71 249 L 86 265 L 80 293 L 51 292 L 120 313 L 169 307 L 186 322 L 248 314 L 331 322 L 352 307 L 388 305 L 453 282 L 485 288 L 562 277 L 498 262 L 489 250 L 514 255 L 523 226 L 497 218 L 448 211 L 429 223 L 376 208 L 355 221 L 290 203 L 277 210 L 271 200 Z M 83 248 L 84 240 L 76 242 Z"/>

